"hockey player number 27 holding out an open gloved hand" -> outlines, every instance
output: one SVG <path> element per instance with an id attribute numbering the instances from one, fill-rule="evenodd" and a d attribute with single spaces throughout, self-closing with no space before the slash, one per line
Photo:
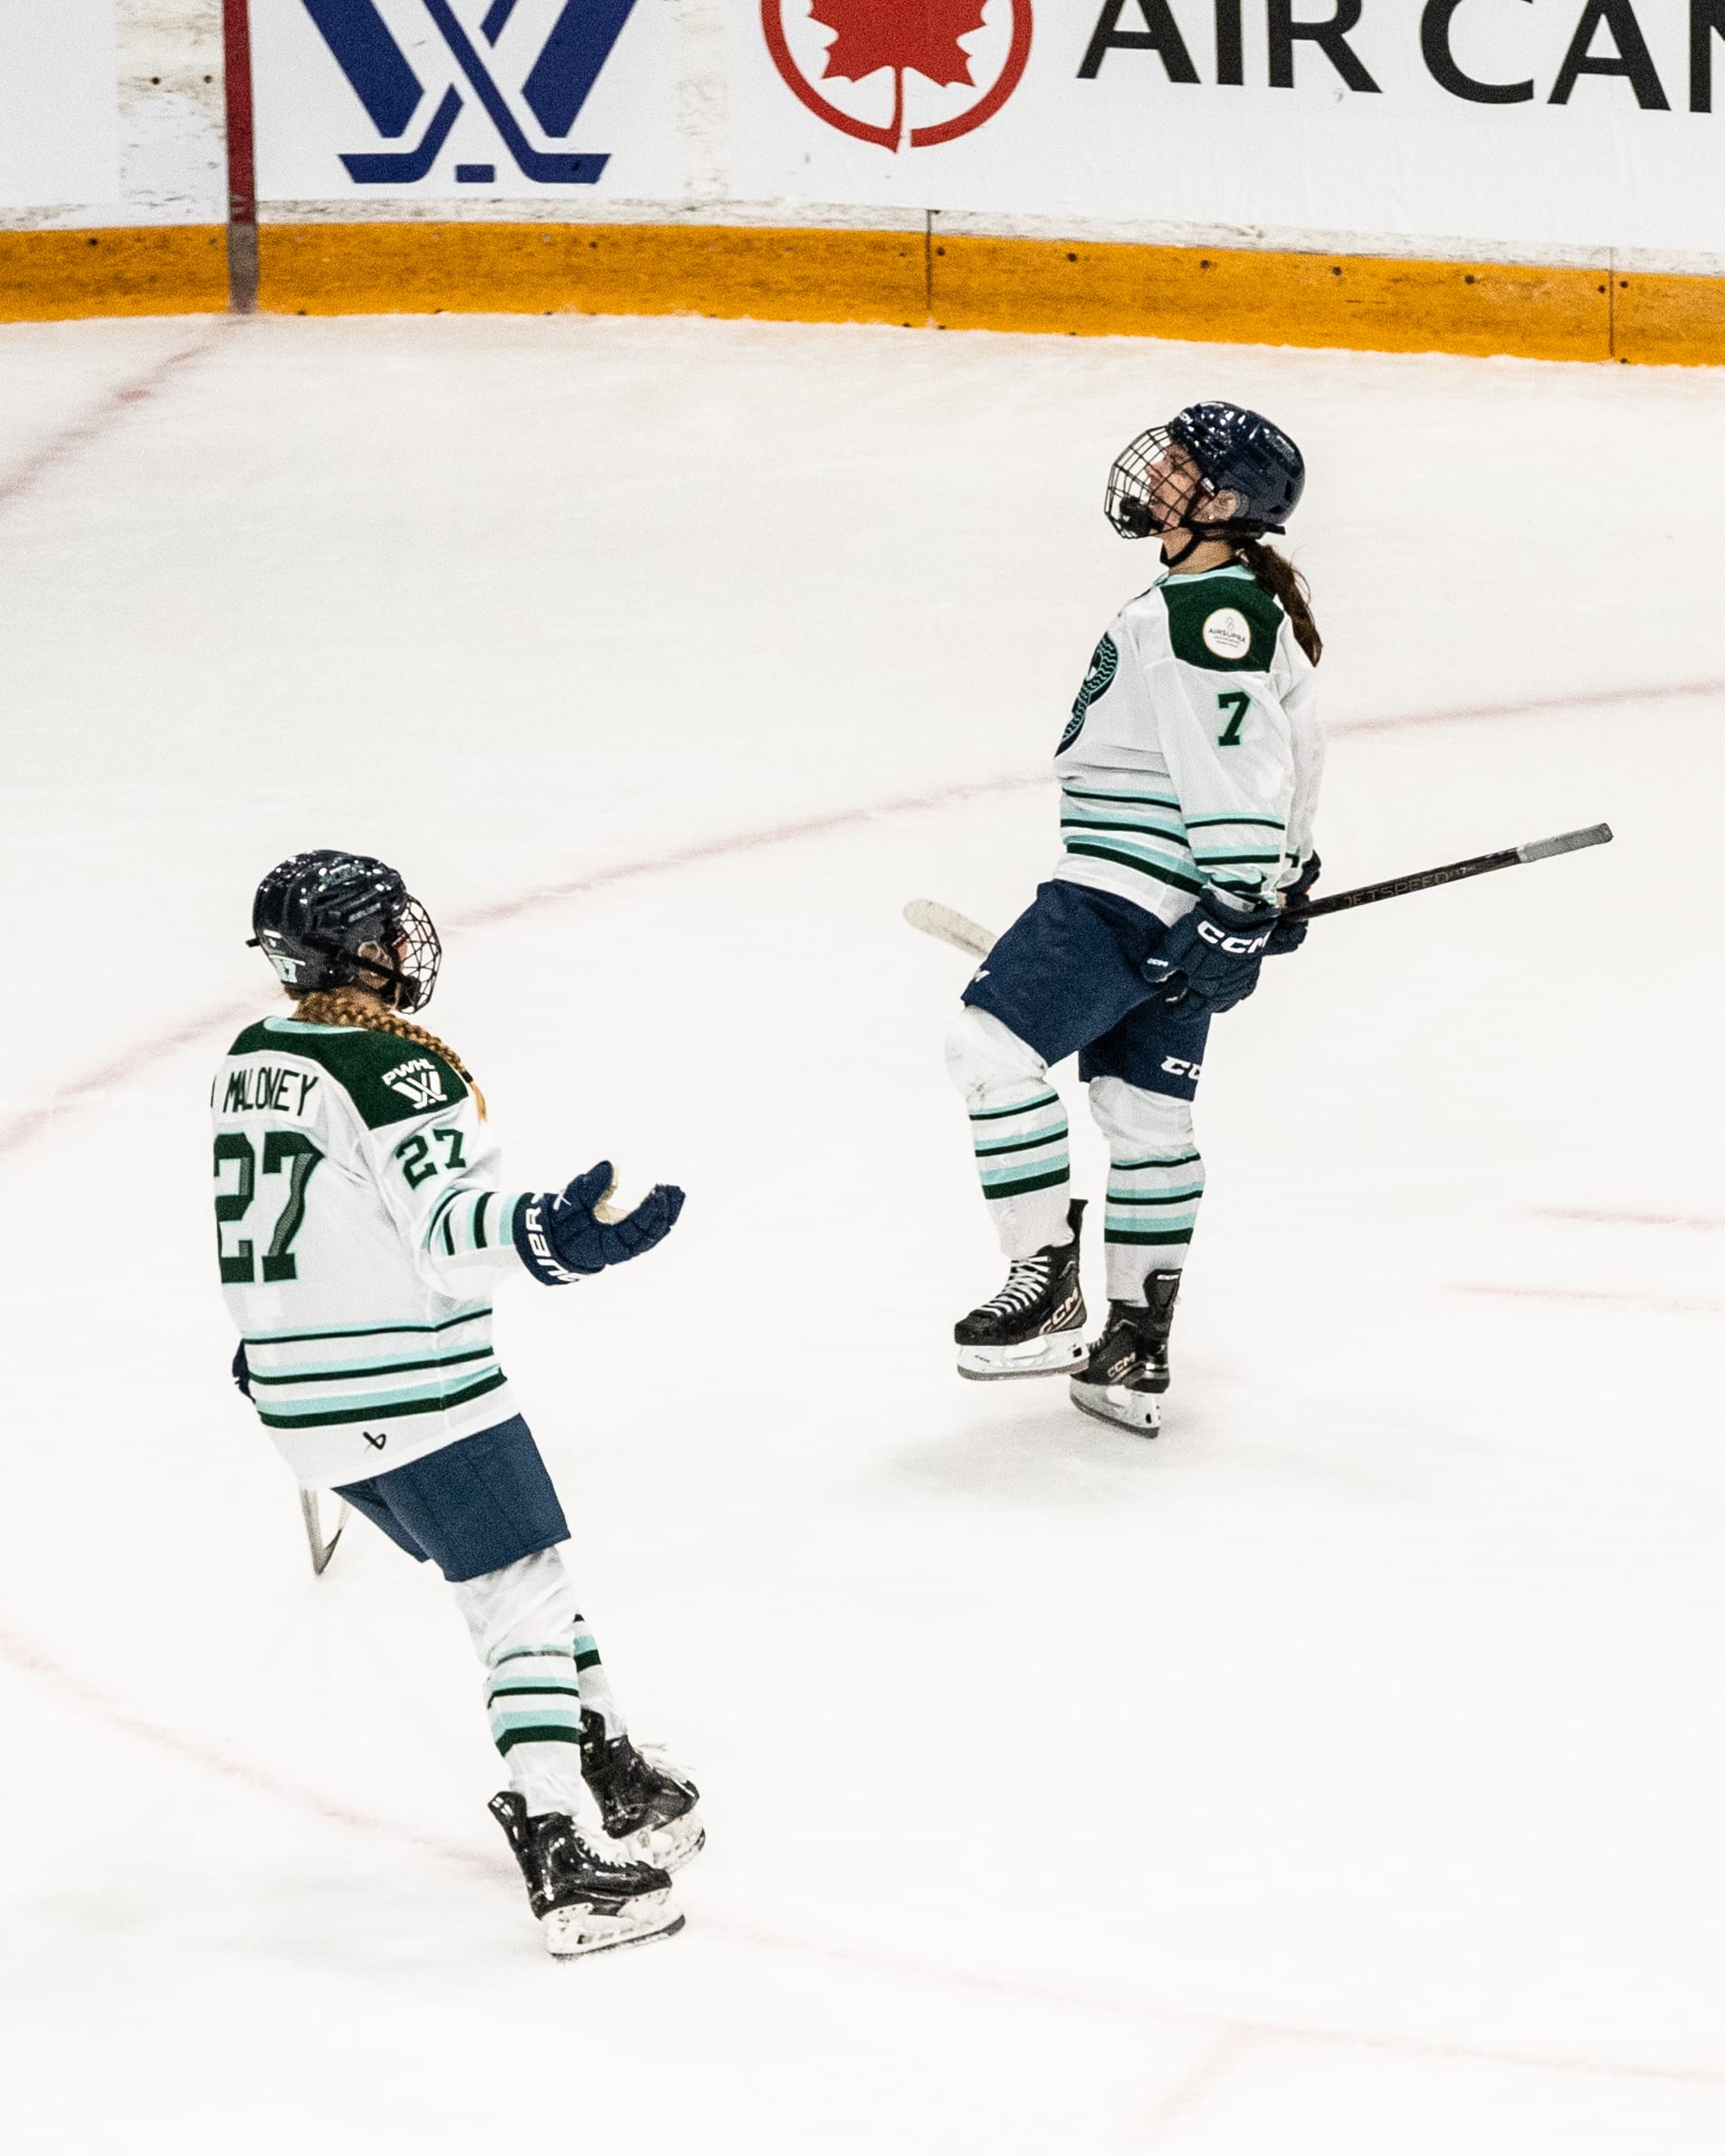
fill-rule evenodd
<path id="1" fill-rule="evenodd" d="M 315 852 L 263 877 L 252 942 L 291 1013 L 216 1074 L 216 1233 L 235 1380 L 308 1490 L 451 1583 L 509 1789 L 492 1811 L 558 1955 L 681 1927 L 699 1792 L 630 1742 L 558 1544 L 569 1529 L 492 1348 L 492 1294 L 649 1250 L 681 1190 L 615 1214 L 610 1162 L 511 1190 L 461 1059 L 408 1020 L 440 942 L 395 869 Z M 610 1848 L 576 1826 L 584 1794 Z"/>

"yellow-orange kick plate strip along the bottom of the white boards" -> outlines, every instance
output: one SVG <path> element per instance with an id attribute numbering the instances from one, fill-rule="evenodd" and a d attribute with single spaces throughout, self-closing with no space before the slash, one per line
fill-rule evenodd
<path id="1" fill-rule="evenodd" d="M 222 226 L 0 233 L 0 319 L 229 304 Z M 1725 278 L 716 224 L 265 224 L 280 315 L 714 315 L 1710 367 Z"/>

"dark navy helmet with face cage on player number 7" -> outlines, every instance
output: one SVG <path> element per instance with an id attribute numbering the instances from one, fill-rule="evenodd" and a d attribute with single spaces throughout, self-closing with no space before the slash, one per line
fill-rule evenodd
<path id="1" fill-rule="evenodd" d="M 1171 448 L 1186 455 L 1171 457 Z M 1197 494 L 1188 459 L 1199 472 Z M 1102 507 L 1123 539 L 1160 539 L 1182 528 L 1203 539 L 1257 539 L 1287 530 L 1305 485 L 1307 461 L 1281 427 L 1242 405 L 1201 403 L 1126 444 Z M 1205 500 L 1223 494 L 1233 496 L 1231 513 L 1205 517 Z"/>

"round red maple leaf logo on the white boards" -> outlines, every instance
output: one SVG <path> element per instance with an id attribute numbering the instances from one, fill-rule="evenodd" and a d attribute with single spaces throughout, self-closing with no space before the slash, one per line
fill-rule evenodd
<path id="1" fill-rule="evenodd" d="M 1031 0 L 761 0 L 761 28 L 811 112 L 893 151 L 992 121 L 1031 58 Z"/>

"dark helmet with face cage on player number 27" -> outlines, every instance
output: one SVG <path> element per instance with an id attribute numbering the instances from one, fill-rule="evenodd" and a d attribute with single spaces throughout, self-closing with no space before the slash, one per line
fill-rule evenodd
<path id="1" fill-rule="evenodd" d="M 442 942 L 401 875 L 369 854 L 319 847 L 278 862 L 252 899 L 254 949 L 289 994 L 386 990 L 397 1011 L 423 1011 Z"/>

